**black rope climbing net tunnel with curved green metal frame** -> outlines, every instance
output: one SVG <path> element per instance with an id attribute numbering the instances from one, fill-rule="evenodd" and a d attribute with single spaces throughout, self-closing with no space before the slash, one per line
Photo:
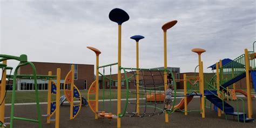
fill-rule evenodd
<path id="1" fill-rule="evenodd" d="M 102 111 L 116 112 L 116 108 L 113 109 L 112 101 L 115 99 L 113 95 L 117 89 L 117 74 L 112 74 L 111 64 L 107 66 L 99 67 L 99 74 L 102 76 L 103 90 L 103 102 L 99 105 Z M 109 69 L 108 75 L 105 74 L 106 69 Z M 162 114 L 165 111 L 165 85 L 168 82 L 164 82 L 164 75 L 170 76 L 173 79 L 173 102 L 172 107 L 176 103 L 176 82 L 174 80 L 171 70 L 162 69 L 135 69 L 135 68 L 120 68 L 122 70 L 122 113 L 119 117 L 152 117 L 154 115 Z M 139 77 L 137 82 L 136 77 Z M 139 85 L 139 90 L 137 90 Z M 167 86 L 166 86 L 167 88 Z M 106 91 L 107 89 L 107 91 Z M 139 103 L 137 103 L 139 95 Z M 100 103 L 99 103 L 100 104 Z M 139 107 L 137 107 L 139 106 Z M 137 108 L 139 108 L 139 113 Z M 99 110 L 99 111 L 100 111 Z M 167 113 L 174 112 L 174 109 L 170 109 Z"/>

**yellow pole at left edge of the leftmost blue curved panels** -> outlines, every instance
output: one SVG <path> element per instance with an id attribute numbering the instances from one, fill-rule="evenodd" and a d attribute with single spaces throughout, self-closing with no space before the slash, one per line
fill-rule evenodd
<path id="1" fill-rule="evenodd" d="M 48 76 L 51 76 L 52 72 L 49 71 L 48 72 Z M 51 119 L 51 79 L 48 80 L 48 100 L 47 100 L 47 123 L 51 123 L 50 122 Z"/>

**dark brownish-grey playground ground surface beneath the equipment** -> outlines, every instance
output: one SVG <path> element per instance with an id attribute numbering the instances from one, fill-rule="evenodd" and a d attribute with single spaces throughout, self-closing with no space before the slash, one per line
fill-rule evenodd
<path id="1" fill-rule="evenodd" d="M 245 100 L 245 112 L 247 113 L 247 103 Z M 177 99 L 177 102 L 180 98 Z M 117 102 L 111 103 L 112 109 L 116 110 Z M 125 103 L 122 101 L 122 103 Z M 234 102 L 236 104 L 236 102 Z M 106 103 L 107 104 L 107 103 Z M 178 104 L 178 103 L 176 103 Z M 240 104 L 240 103 L 239 103 Z M 100 103 L 99 103 L 100 105 Z M 256 99 L 252 99 L 253 106 L 253 118 L 256 118 Z M 46 104 L 41 105 L 41 114 L 46 113 Z M 234 107 L 235 108 L 235 107 Z M 188 104 L 188 110 L 198 110 L 199 109 L 199 98 L 193 98 Z M 235 109 L 236 110 L 236 109 Z M 127 111 L 133 112 L 134 107 L 127 108 Z M 150 110 L 149 110 L 150 111 Z M 233 116 L 227 116 L 225 119 L 225 114 L 218 117 L 217 112 L 211 111 L 210 109 L 205 109 L 205 117 L 201 118 L 199 112 L 190 112 L 187 116 L 184 116 L 183 112 L 174 112 L 169 114 L 169 123 L 165 123 L 164 114 L 152 116 L 152 117 L 123 117 L 121 118 L 121 127 L 256 127 L 255 122 L 251 123 L 238 123 L 237 118 L 233 119 Z M 241 112 L 241 111 L 240 111 Z M 116 113 L 114 111 L 113 113 Z M 60 127 L 117 127 L 117 120 L 112 119 L 111 121 L 106 118 L 95 119 L 95 114 L 90 110 L 88 106 L 83 106 L 82 110 L 79 112 L 76 119 L 70 120 L 70 106 L 65 104 L 60 106 Z M 10 106 L 6 106 L 5 117 L 10 115 Z M 15 116 L 16 117 L 26 117 L 26 118 L 36 118 L 36 105 L 16 105 L 15 106 Z M 6 119 L 6 122 L 9 120 Z M 43 127 L 55 127 L 55 123 L 46 124 L 46 117 L 42 117 Z M 20 120 L 15 120 L 14 127 L 38 127 L 36 123 L 32 122 L 22 122 Z"/>

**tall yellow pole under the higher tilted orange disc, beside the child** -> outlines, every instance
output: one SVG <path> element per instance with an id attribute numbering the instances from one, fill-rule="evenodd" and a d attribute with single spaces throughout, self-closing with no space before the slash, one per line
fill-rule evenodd
<path id="1" fill-rule="evenodd" d="M 167 39 L 166 39 L 166 31 L 164 31 L 164 69 L 167 69 Z M 167 72 L 164 73 L 164 90 L 167 90 Z M 169 122 L 168 113 L 165 112 L 165 123 Z"/>

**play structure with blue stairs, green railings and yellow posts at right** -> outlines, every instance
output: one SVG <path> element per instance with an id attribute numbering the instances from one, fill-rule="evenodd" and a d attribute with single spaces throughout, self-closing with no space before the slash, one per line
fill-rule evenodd
<path id="1" fill-rule="evenodd" d="M 250 55 L 254 55 L 254 52 L 245 49 L 245 53 L 243 55 L 235 58 L 227 64 L 223 65 L 220 60 L 219 63 L 214 65 L 216 75 L 212 77 L 210 82 L 207 82 L 207 87 L 204 92 L 206 98 L 218 107 L 219 117 L 221 116 L 222 111 L 225 113 L 226 117 L 227 115 L 237 116 L 238 122 L 252 122 L 254 120 L 252 118 L 251 97 L 247 97 L 248 114 L 245 113 L 244 107 L 242 112 L 239 112 L 238 109 L 237 112 L 234 111 L 233 106 L 224 100 L 224 92 L 228 92 L 226 88 L 244 77 L 246 77 L 247 95 L 251 96 L 250 72 L 254 81 L 253 77 L 255 77 L 255 75 L 252 72 L 254 72 L 255 63 L 253 58 L 249 59 Z M 244 103 L 242 99 L 238 100 L 241 100 L 241 102 Z M 248 117 L 246 117 L 247 115 Z"/>

